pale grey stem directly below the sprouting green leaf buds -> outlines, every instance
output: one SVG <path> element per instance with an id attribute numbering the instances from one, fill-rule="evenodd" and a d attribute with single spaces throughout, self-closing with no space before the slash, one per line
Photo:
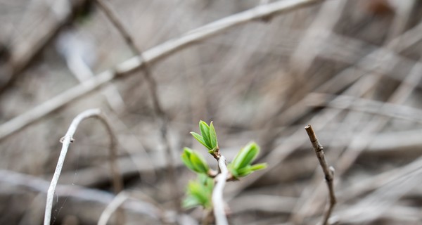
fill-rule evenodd
<path id="1" fill-rule="evenodd" d="M 226 185 L 226 179 L 229 175 L 229 170 L 226 166 L 226 158 L 224 155 L 220 155 L 218 160 L 218 167 L 220 173 L 217 175 L 215 180 L 217 185 L 212 191 L 212 205 L 214 205 L 214 217 L 217 225 L 226 225 L 228 224 L 226 218 L 226 212 L 224 210 L 224 199 L 223 199 L 223 190 Z"/>

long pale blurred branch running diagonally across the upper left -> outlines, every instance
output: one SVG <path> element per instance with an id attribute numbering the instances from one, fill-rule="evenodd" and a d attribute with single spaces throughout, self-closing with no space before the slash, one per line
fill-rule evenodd
<path id="1" fill-rule="evenodd" d="M 232 27 L 243 25 L 260 18 L 287 13 L 297 8 L 302 8 L 318 2 L 321 2 L 321 0 L 277 1 L 271 4 L 257 6 L 248 11 L 243 11 L 242 13 L 230 15 L 226 18 L 222 18 L 221 20 L 204 25 L 203 27 L 191 30 L 178 39 L 172 39 L 144 52 L 144 60 L 141 60 L 139 56 L 130 58 L 129 60 L 120 63 L 112 70 L 106 70 L 105 72 L 88 79 L 86 82 L 79 84 L 68 91 L 64 91 L 62 94 L 51 98 L 49 101 L 41 103 L 35 108 L 27 110 L 25 113 L 16 116 L 4 124 L 1 124 L 0 141 L 27 127 L 29 124 L 40 120 L 46 115 L 53 113 L 53 111 L 67 105 L 71 101 L 75 101 L 75 99 L 81 98 L 82 96 L 95 91 L 113 79 L 138 70 L 144 63 L 154 63 L 155 61 L 170 56 L 172 53 L 184 49 L 191 44 L 198 43 L 198 41 L 203 41 L 204 39 L 210 38 L 216 34 L 220 34 Z"/>

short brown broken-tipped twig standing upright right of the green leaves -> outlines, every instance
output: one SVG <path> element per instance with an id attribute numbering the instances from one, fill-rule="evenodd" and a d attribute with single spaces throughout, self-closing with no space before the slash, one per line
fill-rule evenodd
<path id="1" fill-rule="evenodd" d="M 326 183 L 328 186 L 328 192 L 330 195 L 330 204 L 328 205 L 328 209 L 326 210 L 324 214 L 324 218 L 322 219 L 322 224 L 326 225 L 328 224 L 328 219 L 331 216 L 331 212 L 333 212 L 333 208 L 337 200 L 335 199 L 335 193 L 334 193 L 334 168 L 328 166 L 325 157 L 324 157 L 324 151 L 323 147 L 319 143 L 318 139 L 316 139 L 316 134 L 314 132 L 314 129 L 312 129 L 311 124 L 307 124 L 305 127 L 305 130 L 309 136 L 309 140 L 312 143 L 312 146 L 314 147 L 316 158 L 319 160 L 319 165 L 321 165 L 322 171 L 324 172 Z"/>

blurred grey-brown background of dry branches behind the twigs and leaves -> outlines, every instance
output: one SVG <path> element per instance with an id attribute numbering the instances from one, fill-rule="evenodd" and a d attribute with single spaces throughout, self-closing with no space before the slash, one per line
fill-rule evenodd
<path id="1" fill-rule="evenodd" d="M 283 0 L 103 2 L 149 60 L 166 41 Z M 308 123 L 335 168 L 331 224 L 422 224 L 422 1 L 306 2 L 162 54 L 148 63 L 153 82 L 137 69 L 64 99 L 130 67 L 134 49 L 96 1 L 0 0 L 0 224 L 43 223 L 59 139 L 91 108 L 117 136 L 125 224 L 201 224 L 200 208 L 176 213 L 195 179 L 179 155 L 184 146 L 206 153 L 189 134 L 199 120 L 214 121 L 228 160 L 256 141 L 257 162 L 269 163 L 226 184 L 230 224 L 321 220 L 328 191 Z M 115 199 L 103 124 L 86 120 L 74 138 L 51 224 L 97 224 Z"/>

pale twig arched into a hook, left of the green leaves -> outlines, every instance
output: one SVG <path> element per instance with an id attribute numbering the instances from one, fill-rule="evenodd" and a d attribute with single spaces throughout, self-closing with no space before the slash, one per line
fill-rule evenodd
<path id="1" fill-rule="evenodd" d="M 53 179 L 51 179 L 51 184 L 49 186 L 49 191 L 47 192 L 47 200 L 46 200 L 46 210 L 44 213 L 44 225 L 49 225 L 51 220 L 51 209 L 53 208 L 53 198 L 54 198 L 54 192 L 56 191 L 56 186 L 58 183 L 58 179 L 60 177 L 61 170 L 63 168 L 63 164 L 65 162 L 66 154 L 68 153 L 68 149 L 70 146 L 70 143 L 73 143 L 73 135 L 75 134 L 75 131 L 79 124 L 90 117 L 96 117 L 98 118 L 105 126 L 108 131 L 108 135 L 110 136 L 110 165 L 111 165 L 111 171 L 113 174 L 113 189 L 116 193 L 120 192 L 122 190 L 122 178 L 120 177 L 120 173 L 118 172 L 117 165 L 115 165 L 115 158 L 116 158 L 116 139 L 115 135 L 113 133 L 113 130 L 111 129 L 110 125 L 108 124 L 108 121 L 106 120 L 106 117 L 101 113 L 101 110 L 99 109 L 91 109 L 86 110 L 72 121 L 70 124 L 70 127 L 68 131 L 66 132 L 65 136 L 60 139 L 60 142 L 63 143 L 62 149 L 60 151 L 60 156 L 58 158 L 56 171 L 53 174 Z"/>

